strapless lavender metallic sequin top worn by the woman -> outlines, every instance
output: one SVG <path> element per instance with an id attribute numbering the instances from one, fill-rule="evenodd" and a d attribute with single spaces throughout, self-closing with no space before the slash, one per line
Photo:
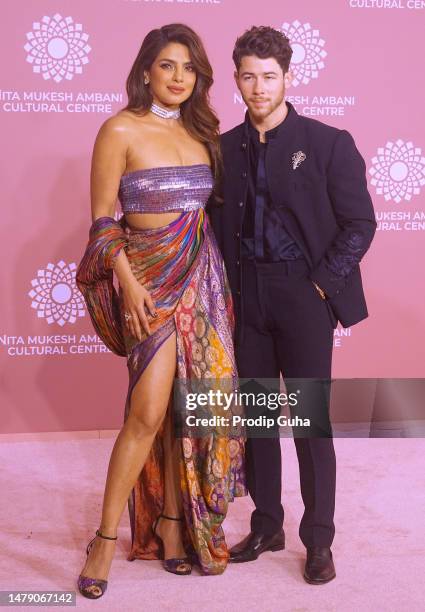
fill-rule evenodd
<path id="1" fill-rule="evenodd" d="M 205 208 L 213 186 L 207 164 L 144 168 L 121 177 L 118 199 L 124 214 L 191 211 Z"/>

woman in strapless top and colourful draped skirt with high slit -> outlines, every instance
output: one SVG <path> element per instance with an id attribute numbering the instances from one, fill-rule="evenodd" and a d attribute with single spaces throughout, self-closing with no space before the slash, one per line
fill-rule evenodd
<path id="1" fill-rule="evenodd" d="M 77 284 L 98 334 L 127 357 L 130 381 L 100 528 L 78 580 L 89 598 L 106 590 L 127 500 L 129 560 L 162 558 L 177 574 L 198 562 L 219 574 L 229 557 L 221 527 L 228 502 L 247 494 L 241 432 L 193 437 L 186 428 L 176 437 L 171 418 L 175 376 L 189 389 L 191 380 L 233 385 L 237 375 L 231 294 L 205 214 L 220 174 L 212 82 L 193 30 L 151 31 L 127 79 L 128 105 L 102 125 L 94 146 L 93 224 Z"/>

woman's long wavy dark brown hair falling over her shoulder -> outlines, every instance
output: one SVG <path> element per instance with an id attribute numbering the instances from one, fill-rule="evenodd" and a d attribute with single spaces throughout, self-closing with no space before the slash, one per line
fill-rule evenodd
<path id="1" fill-rule="evenodd" d="M 208 148 L 216 187 L 220 182 L 222 160 L 220 152 L 219 120 L 210 105 L 209 90 L 213 84 L 212 68 L 199 36 L 189 26 L 172 23 L 151 30 L 144 38 L 140 51 L 127 78 L 128 104 L 124 110 L 146 114 L 152 104 L 152 94 L 144 82 L 155 58 L 169 43 L 180 43 L 189 49 L 196 72 L 192 95 L 180 107 L 183 125 L 196 140 Z"/>

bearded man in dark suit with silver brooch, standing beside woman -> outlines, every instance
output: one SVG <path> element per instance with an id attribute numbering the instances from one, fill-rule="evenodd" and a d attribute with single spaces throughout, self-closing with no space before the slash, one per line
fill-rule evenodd
<path id="1" fill-rule="evenodd" d="M 236 41 L 235 80 L 248 110 L 222 136 L 224 203 L 209 212 L 234 299 L 240 378 L 327 381 L 338 321 L 348 327 L 368 316 L 359 262 L 376 222 L 351 135 L 285 102 L 291 56 L 289 40 L 269 27 Z M 318 420 L 324 411 L 329 418 L 325 396 L 310 395 L 313 420 L 315 401 Z M 335 453 L 332 433 L 317 433 L 322 425 L 294 435 L 311 584 L 335 577 Z M 233 562 L 285 546 L 278 436 L 248 438 L 246 469 L 255 510 L 250 534 L 230 551 Z"/>

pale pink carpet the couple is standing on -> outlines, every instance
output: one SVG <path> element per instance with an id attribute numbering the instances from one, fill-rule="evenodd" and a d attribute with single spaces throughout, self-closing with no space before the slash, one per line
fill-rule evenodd
<path id="1" fill-rule="evenodd" d="M 112 438 L 0 444 L 1 590 L 76 590 L 94 535 Z M 125 511 L 106 595 L 77 593 L 77 608 L 102 610 L 288 610 L 365 612 L 424 609 L 425 440 L 336 439 L 336 580 L 311 586 L 301 570 L 302 502 L 292 440 L 283 440 L 287 549 L 229 565 L 222 576 L 174 576 L 159 561 L 126 560 Z M 231 505 L 228 543 L 246 535 L 249 498 Z M 50 608 L 50 607 L 49 607 Z"/>

